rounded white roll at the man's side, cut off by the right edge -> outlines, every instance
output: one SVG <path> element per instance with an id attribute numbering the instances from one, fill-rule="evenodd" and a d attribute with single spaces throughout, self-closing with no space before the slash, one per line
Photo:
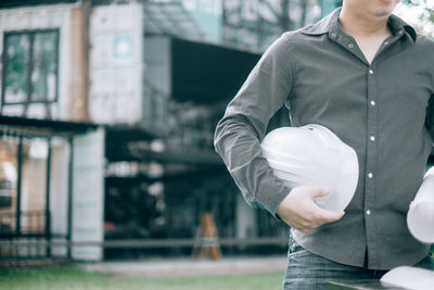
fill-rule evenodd
<path id="1" fill-rule="evenodd" d="M 411 235 L 421 242 L 434 243 L 434 167 L 431 167 L 416 193 L 407 214 Z"/>

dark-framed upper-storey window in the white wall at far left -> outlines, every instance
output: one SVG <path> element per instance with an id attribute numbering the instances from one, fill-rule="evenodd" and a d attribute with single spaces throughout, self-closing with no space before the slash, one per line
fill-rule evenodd
<path id="1" fill-rule="evenodd" d="M 58 55 L 58 29 L 5 33 L 2 109 L 9 104 L 49 104 L 56 101 Z"/>

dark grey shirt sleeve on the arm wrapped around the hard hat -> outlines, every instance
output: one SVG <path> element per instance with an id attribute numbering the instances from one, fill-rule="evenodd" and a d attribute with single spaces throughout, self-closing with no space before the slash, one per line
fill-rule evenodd
<path id="1" fill-rule="evenodd" d="M 247 203 L 264 206 L 275 217 L 291 188 L 275 177 L 260 155 L 259 141 L 293 86 L 290 39 L 291 33 L 283 34 L 264 53 L 228 104 L 214 138 L 217 153 Z"/>

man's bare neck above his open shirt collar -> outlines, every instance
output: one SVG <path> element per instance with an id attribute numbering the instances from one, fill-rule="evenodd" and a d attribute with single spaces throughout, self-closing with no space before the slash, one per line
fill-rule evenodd
<path id="1" fill-rule="evenodd" d="M 370 37 L 390 34 L 387 27 L 388 15 L 369 17 L 358 11 L 342 8 L 339 22 L 342 29 L 352 36 Z"/>

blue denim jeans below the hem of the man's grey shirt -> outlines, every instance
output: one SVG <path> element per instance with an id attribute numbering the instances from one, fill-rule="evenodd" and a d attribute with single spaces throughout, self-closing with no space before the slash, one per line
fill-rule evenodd
<path id="1" fill-rule="evenodd" d="M 431 254 L 416 266 L 433 268 Z M 290 236 L 288 266 L 283 278 L 284 290 L 324 289 L 328 280 L 380 279 L 387 270 L 347 266 L 321 257 L 303 249 Z"/>

